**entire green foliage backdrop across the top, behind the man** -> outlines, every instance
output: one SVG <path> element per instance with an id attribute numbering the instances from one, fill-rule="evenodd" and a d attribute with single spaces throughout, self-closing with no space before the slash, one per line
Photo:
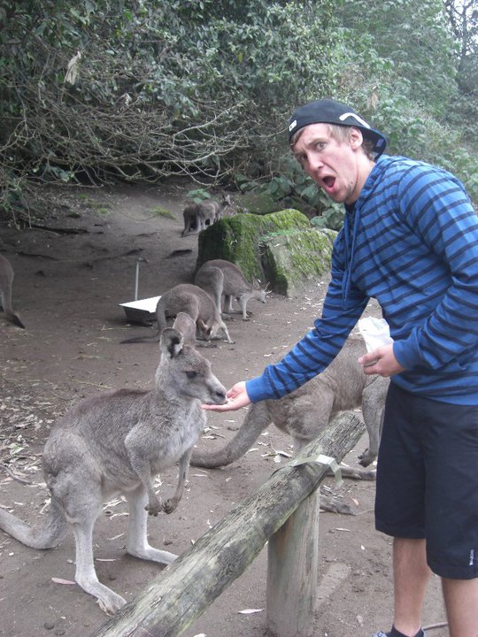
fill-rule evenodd
<path id="1" fill-rule="evenodd" d="M 286 157 L 289 113 L 318 96 L 478 198 L 477 47 L 472 0 L 7 0 L 0 214 L 33 184 L 179 174 L 194 201 L 235 181 L 336 227 Z"/>

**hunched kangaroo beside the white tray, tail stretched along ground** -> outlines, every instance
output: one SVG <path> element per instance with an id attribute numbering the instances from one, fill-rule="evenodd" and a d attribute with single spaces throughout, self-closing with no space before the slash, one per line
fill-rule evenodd
<path id="1" fill-rule="evenodd" d="M 159 334 L 167 326 L 167 319 L 175 317 L 178 312 L 186 312 L 196 322 L 197 330 L 205 341 L 216 338 L 220 330 L 225 334 L 226 340 L 232 343 L 227 326 L 220 318 L 220 311 L 216 308 L 212 297 L 191 283 L 180 283 L 170 288 L 162 295 L 156 306 L 157 333 L 151 336 L 135 336 L 121 341 L 152 342 L 158 341 Z"/>

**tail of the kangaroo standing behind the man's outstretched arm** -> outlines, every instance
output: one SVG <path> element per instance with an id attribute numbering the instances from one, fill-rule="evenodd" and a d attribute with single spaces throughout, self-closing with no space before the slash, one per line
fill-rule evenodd
<path id="1" fill-rule="evenodd" d="M 242 457 L 257 441 L 261 432 L 271 423 L 266 401 L 253 404 L 243 420 L 235 437 L 227 445 L 216 451 L 193 451 L 190 464 L 202 466 L 206 469 L 216 469 L 235 462 Z"/>

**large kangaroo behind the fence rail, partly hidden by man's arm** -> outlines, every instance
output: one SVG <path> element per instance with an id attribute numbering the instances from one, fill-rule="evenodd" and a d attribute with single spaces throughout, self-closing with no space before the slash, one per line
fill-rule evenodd
<path id="1" fill-rule="evenodd" d="M 252 404 L 239 431 L 225 447 L 210 452 L 195 449 L 191 464 L 212 469 L 235 462 L 251 449 L 258 436 L 272 423 L 292 436 L 297 454 L 339 411 L 361 407 L 369 442 L 368 449 L 359 456 L 359 462 L 364 467 L 368 466 L 378 453 L 389 379 L 367 376 L 363 372 L 357 361 L 365 353 L 365 342 L 361 338 L 350 337 L 324 372 L 278 400 Z M 342 472 L 344 476 L 353 478 L 374 475 L 363 475 L 346 467 Z M 327 510 L 351 512 L 347 505 L 344 509 L 337 509 L 325 496 L 321 497 L 320 506 Z"/>

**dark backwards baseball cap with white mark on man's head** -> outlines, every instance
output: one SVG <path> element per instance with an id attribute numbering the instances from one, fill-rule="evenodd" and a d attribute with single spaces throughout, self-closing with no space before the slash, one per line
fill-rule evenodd
<path id="1" fill-rule="evenodd" d="M 374 142 L 375 159 L 382 155 L 387 145 L 385 135 L 370 127 L 366 120 L 349 106 L 334 100 L 323 99 L 300 106 L 289 119 L 289 142 L 298 130 L 309 124 L 336 124 L 358 128 L 366 139 Z"/>

